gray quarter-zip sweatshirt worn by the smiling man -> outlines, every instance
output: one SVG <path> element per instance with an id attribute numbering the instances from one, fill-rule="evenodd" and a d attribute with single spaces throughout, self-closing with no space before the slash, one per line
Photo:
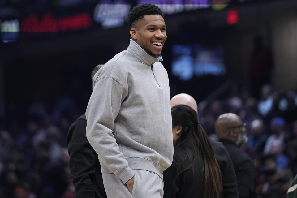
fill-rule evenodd
<path id="1" fill-rule="evenodd" d="M 123 183 L 137 169 L 162 178 L 172 163 L 170 90 L 159 61 L 161 56 L 150 56 L 131 39 L 94 76 L 86 135 L 102 173 L 114 173 Z"/>

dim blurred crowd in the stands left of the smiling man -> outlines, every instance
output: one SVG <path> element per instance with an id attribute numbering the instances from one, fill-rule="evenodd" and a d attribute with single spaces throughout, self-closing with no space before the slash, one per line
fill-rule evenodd
<path id="1" fill-rule="evenodd" d="M 75 198 L 66 135 L 80 114 L 74 102 L 9 103 L 0 124 L 1 198 Z"/>

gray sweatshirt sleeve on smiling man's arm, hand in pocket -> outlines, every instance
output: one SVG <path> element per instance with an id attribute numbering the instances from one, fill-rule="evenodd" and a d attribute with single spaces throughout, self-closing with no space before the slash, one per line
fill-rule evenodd
<path id="1" fill-rule="evenodd" d="M 101 77 L 96 81 L 86 110 L 89 143 L 123 183 L 131 179 L 135 172 L 120 151 L 113 128 L 121 103 L 127 95 L 126 89 L 117 80 L 110 76 Z"/>

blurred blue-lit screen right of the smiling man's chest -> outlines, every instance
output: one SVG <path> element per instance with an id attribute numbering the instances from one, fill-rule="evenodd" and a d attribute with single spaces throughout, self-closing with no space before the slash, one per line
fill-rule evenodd
<path id="1" fill-rule="evenodd" d="M 226 73 L 222 47 L 202 47 L 199 44 L 172 46 L 172 75 L 180 80 L 191 80 L 194 76 L 222 76 Z"/>

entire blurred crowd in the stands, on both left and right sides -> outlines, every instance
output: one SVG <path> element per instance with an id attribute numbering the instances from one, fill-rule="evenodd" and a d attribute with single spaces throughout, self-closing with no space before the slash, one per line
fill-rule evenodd
<path id="1" fill-rule="evenodd" d="M 80 114 L 67 97 L 49 107 L 45 101 L 28 106 L 7 105 L 0 122 L 0 198 L 75 198 L 69 171 L 66 135 Z M 297 94 L 279 94 L 270 85 L 259 98 L 248 90 L 210 101 L 199 112 L 200 124 L 216 139 L 214 122 L 226 112 L 246 123 L 244 148 L 255 165 L 260 198 L 286 197 L 297 174 Z"/>

